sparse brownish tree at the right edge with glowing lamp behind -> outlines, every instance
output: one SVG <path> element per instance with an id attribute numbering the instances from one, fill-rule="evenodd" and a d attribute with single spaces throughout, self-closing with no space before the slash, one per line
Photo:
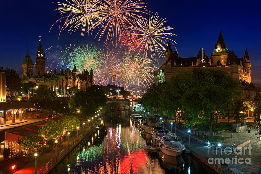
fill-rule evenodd
<path id="1" fill-rule="evenodd" d="M 245 90 L 245 95 L 256 122 L 257 116 L 261 113 L 261 87 L 255 85 L 251 90 Z"/>

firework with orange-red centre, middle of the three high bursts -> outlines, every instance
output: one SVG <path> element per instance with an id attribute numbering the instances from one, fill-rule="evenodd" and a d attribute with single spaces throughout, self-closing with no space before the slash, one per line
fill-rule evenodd
<path id="1" fill-rule="evenodd" d="M 105 0 L 104 10 L 106 17 L 100 33 L 99 39 L 107 31 L 106 42 L 113 37 L 120 39 L 122 31 L 128 31 L 129 26 L 135 25 L 134 19 L 138 20 L 140 13 L 146 13 L 146 6 L 142 0 Z M 96 35 L 96 37 L 97 37 Z"/>

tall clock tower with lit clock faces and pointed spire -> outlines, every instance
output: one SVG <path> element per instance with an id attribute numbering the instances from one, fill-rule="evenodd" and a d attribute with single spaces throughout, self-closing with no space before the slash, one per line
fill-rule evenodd
<path id="1" fill-rule="evenodd" d="M 45 73 L 45 55 L 42 48 L 41 36 L 39 40 L 39 46 L 35 58 L 35 75 L 41 77 Z"/>

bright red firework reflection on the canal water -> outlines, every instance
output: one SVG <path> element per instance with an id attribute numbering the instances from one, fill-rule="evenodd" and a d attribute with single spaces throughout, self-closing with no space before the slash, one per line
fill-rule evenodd
<path id="1" fill-rule="evenodd" d="M 139 168 L 146 165 L 147 154 L 145 150 L 131 152 L 130 155 L 123 157 L 120 165 L 120 173 L 138 173 Z"/>

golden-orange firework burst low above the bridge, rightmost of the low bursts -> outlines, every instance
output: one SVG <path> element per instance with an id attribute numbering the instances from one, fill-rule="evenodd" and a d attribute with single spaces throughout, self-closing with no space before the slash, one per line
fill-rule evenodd
<path id="1" fill-rule="evenodd" d="M 124 87 L 146 89 L 152 83 L 157 67 L 153 61 L 138 54 L 127 54 L 121 59 L 119 77 Z"/>

